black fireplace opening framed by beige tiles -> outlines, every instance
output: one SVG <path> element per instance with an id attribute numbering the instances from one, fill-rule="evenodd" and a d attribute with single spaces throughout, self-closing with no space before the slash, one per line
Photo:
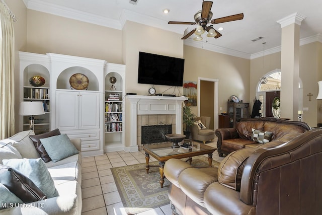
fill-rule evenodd
<path id="1" fill-rule="evenodd" d="M 142 145 L 167 142 L 166 134 L 169 133 L 172 133 L 172 125 L 144 125 L 141 127 Z"/>

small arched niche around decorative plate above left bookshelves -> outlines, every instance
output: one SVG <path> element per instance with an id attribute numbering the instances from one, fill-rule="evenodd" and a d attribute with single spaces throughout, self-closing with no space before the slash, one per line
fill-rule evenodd
<path id="1" fill-rule="evenodd" d="M 24 86 L 31 86 L 29 84 L 29 80 L 31 77 L 33 76 L 41 76 L 45 79 L 45 84 L 41 87 L 48 87 L 49 88 L 49 71 L 48 69 L 41 65 L 41 64 L 30 64 L 28 66 L 26 66 L 26 68 L 24 69 Z"/>

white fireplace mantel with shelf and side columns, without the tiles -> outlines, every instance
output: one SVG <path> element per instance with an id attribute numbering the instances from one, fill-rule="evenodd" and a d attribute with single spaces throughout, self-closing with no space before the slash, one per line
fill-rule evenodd
<path id="1" fill-rule="evenodd" d="M 137 115 L 175 114 L 176 133 L 182 132 L 182 103 L 187 97 L 127 95 L 126 98 L 130 102 L 130 151 L 138 151 Z"/>

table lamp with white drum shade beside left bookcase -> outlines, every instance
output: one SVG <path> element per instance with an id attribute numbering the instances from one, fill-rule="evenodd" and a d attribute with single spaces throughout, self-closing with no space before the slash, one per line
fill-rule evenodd
<path id="1" fill-rule="evenodd" d="M 42 114 L 45 114 L 42 102 L 20 102 L 19 115 L 29 116 L 30 130 L 34 130 L 34 116 Z"/>

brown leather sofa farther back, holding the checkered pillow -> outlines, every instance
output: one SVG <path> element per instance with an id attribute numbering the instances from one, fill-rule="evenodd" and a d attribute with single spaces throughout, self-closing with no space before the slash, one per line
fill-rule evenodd
<path id="1" fill-rule="evenodd" d="M 218 155 L 222 157 L 223 154 L 227 155 L 239 149 L 261 146 L 262 144 L 252 140 L 252 128 L 272 132 L 271 141 L 288 133 L 303 133 L 310 130 L 310 126 L 305 122 L 273 117 L 241 119 L 235 128 L 216 129 Z"/>

